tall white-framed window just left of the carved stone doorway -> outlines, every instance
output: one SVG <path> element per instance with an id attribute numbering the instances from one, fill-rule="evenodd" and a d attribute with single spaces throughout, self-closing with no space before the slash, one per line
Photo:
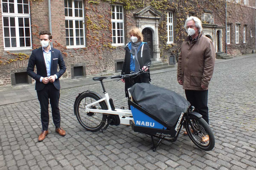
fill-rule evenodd
<path id="1" fill-rule="evenodd" d="M 111 5 L 112 45 L 124 45 L 123 6 Z"/>

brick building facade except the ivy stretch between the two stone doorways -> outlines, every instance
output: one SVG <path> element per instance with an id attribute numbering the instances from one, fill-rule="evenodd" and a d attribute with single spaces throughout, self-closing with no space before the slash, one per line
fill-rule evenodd
<path id="1" fill-rule="evenodd" d="M 256 3 L 254 0 L 227 3 L 227 53 L 255 51 Z M 127 31 L 137 26 L 149 42 L 153 61 L 168 62 L 177 47 L 177 11 L 161 10 L 148 0 L 134 6 L 106 0 L 51 0 L 53 47 L 61 50 L 67 66 L 61 78 L 120 71 Z M 139 3 L 140 2 L 140 3 Z M 221 3 L 225 6 L 225 1 Z M 2 0 L 0 3 L 0 86 L 31 83 L 26 66 L 31 50 L 40 47 L 38 34 L 49 30 L 48 1 Z M 225 8 L 195 15 L 203 21 L 203 34 L 211 38 L 216 52 L 225 52 Z M 211 11 L 210 11 L 211 10 Z M 223 12 L 224 11 L 224 12 Z M 187 15 L 184 15 L 186 19 Z M 184 35 L 185 36 L 185 35 Z M 183 36 L 183 37 L 184 37 Z M 167 49 L 167 47 L 169 47 Z"/>

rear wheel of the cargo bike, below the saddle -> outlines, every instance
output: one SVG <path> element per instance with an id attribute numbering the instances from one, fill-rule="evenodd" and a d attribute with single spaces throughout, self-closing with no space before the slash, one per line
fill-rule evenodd
<path id="1" fill-rule="evenodd" d="M 88 131 L 98 131 L 106 123 L 107 115 L 95 112 L 85 112 L 85 106 L 96 102 L 100 98 L 92 93 L 84 93 L 79 96 L 74 104 L 74 112 L 79 123 Z M 90 106 L 93 109 L 107 110 L 106 102 L 102 101 L 95 105 Z"/>

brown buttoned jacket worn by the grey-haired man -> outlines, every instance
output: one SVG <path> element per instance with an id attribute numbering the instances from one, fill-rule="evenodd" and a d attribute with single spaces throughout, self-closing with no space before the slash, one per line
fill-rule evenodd
<path id="1" fill-rule="evenodd" d="M 210 83 L 215 64 L 213 42 L 202 34 L 194 41 L 190 36 L 182 43 L 178 57 L 177 79 L 182 80 L 185 90 L 206 90 Z"/>

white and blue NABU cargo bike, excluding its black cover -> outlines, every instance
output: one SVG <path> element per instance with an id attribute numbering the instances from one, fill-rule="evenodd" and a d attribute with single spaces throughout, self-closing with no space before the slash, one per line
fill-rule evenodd
<path id="1" fill-rule="evenodd" d="M 137 76 L 141 73 L 144 73 L 144 71 L 139 71 L 138 73 L 132 73 L 132 74 L 126 74 L 126 75 L 117 75 L 117 76 L 111 76 L 111 78 L 127 78 L 130 76 Z M 182 112 L 180 114 L 179 119 L 176 121 L 175 125 L 168 126 L 167 121 L 162 120 L 159 117 L 156 117 L 154 114 L 150 113 L 148 110 L 145 110 L 144 107 L 139 105 L 137 102 L 132 100 L 132 97 L 128 99 L 128 104 L 130 105 L 131 110 L 124 110 L 124 109 L 116 109 L 113 104 L 113 100 L 109 98 L 108 93 L 106 92 L 102 80 L 107 77 L 94 77 L 93 80 L 100 81 L 103 89 L 104 97 L 102 98 L 99 94 L 93 91 L 84 91 L 82 93 L 79 93 L 78 97 L 76 97 L 76 101 L 74 104 L 74 112 L 76 117 L 78 118 L 79 123 L 88 131 L 98 131 L 101 130 L 102 132 L 107 129 L 109 125 L 131 125 L 131 128 L 135 132 L 144 133 L 151 136 L 152 144 L 153 144 L 153 151 L 156 150 L 156 148 L 159 146 L 160 142 L 162 140 L 174 142 L 177 140 L 178 135 L 180 133 L 180 130 L 182 129 L 182 125 L 185 123 L 186 131 L 189 134 L 189 138 L 192 140 L 192 142 L 199 147 L 200 149 L 204 151 L 210 151 L 213 149 L 215 144 L 214 135 L 210 129 L 210 126 L 201 118 L 202 116 L 197 113 L 193 112 L 195 109 L 190 104 L 188 105 L 187 111 Z M 129 92 L 129 90 L 128 90 Z M 88 93 L 90 95 L 83 95 L 84 93 Z M 87 116 L 93 116 L 94 113 L 104 114 L 102 117 L 102 120 L 99 120 L 99 125 L 96 127 L 88 127 L 84 125 L 84 123 L 81 120 L 80 113 L 79 113 L 79 107 L 81 100 L 86 97 L 92 97 L 93 99 L 97 100 L 96 102 L 92 102 L 90 104 L 83 105 L 83 110 L 87 113 Z M 129 96 L 131 96 L 129 94 Z M 96 104 L 100 104 L 103 109 L 97 109 L 95 106 Z M 79 108 L 78 108 L 79 107 Z M 107 109 L 107 110 L 104 110 Z M 155 112 L 155 111 L 154 111 Z M 134 114 L 134 116 L 132 115 Z M 83 112 L 84 114 L 84 112 Z M 118 115 L 118 117 L 116 116 Z M 85 115 L 86 116 L 86 115 Z M 85 117 L 83 117 L 85 118 Z M 119 120 L 118 120 L 119 118 Z M 86 118 L 85 118 L 86 119 Z M 107 121 L 106 121 L 107 120 Z M 198 128 L 192 124 L 192 121 L 194 120 L 196 122 L 199 122 L 200 128 L 203 128 L 204 132 L 200 130 L 198 131 Z M 136 122 L 135 122 L 136 121 Z M 105 123 L 107 122 L 107 125 L 104 127 Z M 97 125 L 97 124 L 96 124 Z M 104 127 L 104 128 L 102 128 Z M 190 132 L 190 128 L 193 130 L 193 132 Z M 197 129 L 196 129 L 197 128 Z M 208 145 L 202 145 L 202 136 L 208 138 Z M 201 134 L 202 133 L 202 134 Z M 196 138 L 194 137 L 196 136 Z M 207 137 L 208 136 L 208 137 Z M 153 137 L 159 138 L 160 140 L 155 144 Z M 165 139 L 167 137 L 167 139 Z M 199 139 L 198 139 L 199 138 Z M 199 141 L 198 141 L 199 140 Z"/>

